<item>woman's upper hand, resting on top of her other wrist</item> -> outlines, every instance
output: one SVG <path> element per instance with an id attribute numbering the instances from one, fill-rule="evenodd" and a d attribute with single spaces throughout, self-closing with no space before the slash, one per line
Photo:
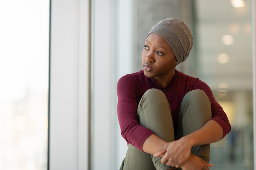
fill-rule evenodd
<path id="1" fill-rule="evenodd" d="M 180 168 L 190 156 L 191 148 L 192 145 L 184 136 L 179 140 L 165 144 L 156 154 L 154 154 L 154 156 L 159 157 L 164 154 L 161 158 L 161 163 L 166 163 L 167 166 Z"/>

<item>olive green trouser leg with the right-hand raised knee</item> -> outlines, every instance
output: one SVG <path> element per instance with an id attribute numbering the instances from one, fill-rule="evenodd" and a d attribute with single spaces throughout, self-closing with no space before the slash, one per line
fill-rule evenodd
<path id="1" fill-rule="evenodd" d="M 202 128 L 211 117 L 211 102 L 204 91 L 188 92 L 181 103 L 177 140 Z M 191 153 L 209 162 L 210 144 L 194 146 Z"/>

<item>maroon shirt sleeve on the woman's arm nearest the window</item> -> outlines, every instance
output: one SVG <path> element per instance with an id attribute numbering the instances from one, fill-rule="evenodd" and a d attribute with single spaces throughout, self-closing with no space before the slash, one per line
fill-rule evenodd
<path id="1" fill-rule="evenodd" d="M 142 151 L 144 141 L 153 132 L 139 123 L 137 115 L 137 98 L 141 95 L 139 86 L 132 75 L 128 74 L 120 78 L 117 83 L 117 116 L 123 138 Z"/>

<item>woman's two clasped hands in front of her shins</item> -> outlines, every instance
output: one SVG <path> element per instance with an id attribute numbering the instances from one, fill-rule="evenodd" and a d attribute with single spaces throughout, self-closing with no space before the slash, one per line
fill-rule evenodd
<path id="1" fill-rule="evenodd" d="M 179 140 L 165 144 L 154 156 L 161 156 L 161 163 L 176 168 L 181 167 L 182 170 L 209 170 L 213 164 L 191 154 L 191 148 L 192 145 L 184 136 Z"/>

